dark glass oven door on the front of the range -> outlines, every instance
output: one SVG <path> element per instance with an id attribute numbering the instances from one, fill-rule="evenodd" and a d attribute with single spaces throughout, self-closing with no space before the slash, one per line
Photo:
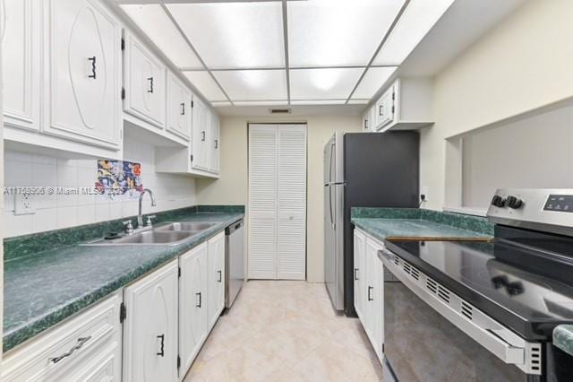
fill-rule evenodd
<path id="1" fill-rule="evenodd" d="M 523 359 L 524 353 L 519 353 L 523 349 L 504 349 L 501 340 L 495 348 L 494 338 L 492 351 L 498 353 L 494 355 L 433 308 L 440 309 L 416 289 L 415 282 L 426 277 L 423 273 L 392 253 L 381 252 L 380 257 L 390 273 L 384 277 L 384 382 L 543 380 L 500 359 L 500 355 L 510 362 Z"/>

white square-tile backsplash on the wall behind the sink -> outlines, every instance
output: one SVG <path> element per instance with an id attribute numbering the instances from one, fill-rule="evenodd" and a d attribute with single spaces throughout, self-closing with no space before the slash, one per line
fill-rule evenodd
<path id="1" fill-rule="evenodd" d="M 143 213 L 182 208 L 196 204 L 193 178 L 155 172 L 155 150 L 148 143 L 125 143 L 125 161 L 141 163 L 143 187 L 150 188 L 143 199 Z M 97 158 L 71 160 L 25 152 L 4 152 L 4 186 L 93 187 L 97 178 Z M 34 195 L 36 213 L 14 215 L 14 198 L 4 196 L 6 237 L 46 230 L 69 228 L 137 214 L 137 200 L 109 200 L 103 195 Z"/>

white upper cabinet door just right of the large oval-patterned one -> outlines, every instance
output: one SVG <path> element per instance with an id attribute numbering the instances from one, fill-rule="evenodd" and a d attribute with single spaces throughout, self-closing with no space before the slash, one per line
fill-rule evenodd
<path id="1" fill-rule="evenodd" d="M 128 34 L 125 45 L 125 111 L 150 123 L 165 126 L 166 69 L 141 42 Z"/>

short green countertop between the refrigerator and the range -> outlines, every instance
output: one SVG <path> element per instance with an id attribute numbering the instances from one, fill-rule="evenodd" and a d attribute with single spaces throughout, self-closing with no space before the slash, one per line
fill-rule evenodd
<path id="1" fill-rule="evenodd" d="M 489 239 L 493 236 L 493 225 L 485 218 L 418 208 L 353 208 L 351 221 L 382 241 L 387 238 Z"/>

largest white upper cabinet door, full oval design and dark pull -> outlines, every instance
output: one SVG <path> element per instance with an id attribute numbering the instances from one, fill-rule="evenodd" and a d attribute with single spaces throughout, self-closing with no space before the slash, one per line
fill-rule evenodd
<path id="1" fill-rule="evenodd" d="M 121 27 L 102 3 L 52 0 L 45 33 L 45 131 L 121 148 Z"/>

